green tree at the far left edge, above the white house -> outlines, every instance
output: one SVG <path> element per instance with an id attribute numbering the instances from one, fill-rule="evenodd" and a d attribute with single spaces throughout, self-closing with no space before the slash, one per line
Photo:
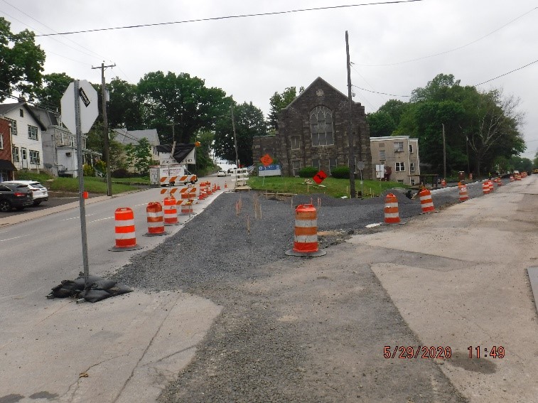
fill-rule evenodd
<path id="1" fill-rule="evenodd" d="M 27 29 L 11 33 L 11 23 L 0 17 L 0 102 L 14 91 L 33 100 L 44 63 L 45 52 L 36 45 L 35 34 Z"/>

